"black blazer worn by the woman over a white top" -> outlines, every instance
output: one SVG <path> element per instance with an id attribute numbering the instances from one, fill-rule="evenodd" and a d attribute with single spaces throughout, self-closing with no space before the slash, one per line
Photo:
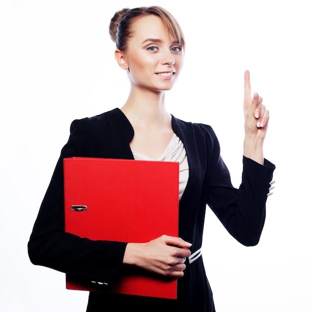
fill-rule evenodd
<path id="1" fill-rule="evenodd" d="M 242 184 L 236 189 L 211 127 L 172 116 L 172 129 L 184 144 L 189 164 L 189 179 L 179 203 L 179 236 L 193 244 L 191 251 L 201 247 L 208 204 L 235 239 L 246 246 L 256 245 L 275 166 L 268 160 L 260 165 L 243 157 Z M 87 281 L 119 281 L 126 243 L 91 241 L 64 232 L 63 158 L 133 159 L 129 146 L 133 136 L 130 122 L 119 109 L 72 123 L 28 243 L 33 264 Z M 111 295 L 105 287 L 104 292 L 90 293 L 88 311 L 149 311 L 151 307 L 162 311 L 214 311 L 201 257 L 191 264 L 187 261 L 184 276 L 178 280 L 177 300 Z"/>

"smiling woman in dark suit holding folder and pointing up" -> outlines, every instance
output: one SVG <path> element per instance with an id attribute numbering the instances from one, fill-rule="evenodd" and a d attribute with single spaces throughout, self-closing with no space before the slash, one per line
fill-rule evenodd
<path id="1" fill-rule="evenodd" d="M 258 243 L 275 168 L 262 149 L 269 112 L 257 93 L 251 98 L 247 71 L 244 168 L 236 189 L 211 127 L 183 122 L 165 109 L 164 94 L 181 71 L 185 45 L 174 17 L 157 6 L 124 9 L 112 18 L 110 35 L 130 79 L 128 100 L 121 109 L 72 123 L 29 240 L 29 257 L 34 264 L 101 281 L 103 292 L 90 293 L 89 312 L 215 311 L 200 254 L 205 207 L 239 242 Z M 72 156 L 179 161 L 179 237 L 127 244 L 64 233 L 63 158 Z M 179 278 L 177 300 L 106 293 L 105 285 L 118 283 L 129 265 Z"/>

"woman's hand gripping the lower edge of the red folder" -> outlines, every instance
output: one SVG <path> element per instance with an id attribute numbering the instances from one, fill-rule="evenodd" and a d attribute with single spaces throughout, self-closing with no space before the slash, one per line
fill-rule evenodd
<path id="1" fill-rule="evenodd" d="M 129 243 L 126 247 L 124 264 L 135 265 L 155 274 L 178 278 L 184 275 L 187 249 L 191 244 L 179 237 L 162 235 L 148 243 Z"/>

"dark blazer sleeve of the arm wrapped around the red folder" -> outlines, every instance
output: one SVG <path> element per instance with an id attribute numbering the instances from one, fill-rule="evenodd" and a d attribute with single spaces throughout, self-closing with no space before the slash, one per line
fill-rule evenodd
<path id="1" fill-rule="evenodd" d="M 35 265 L 46 266 L 78 278 L 108 284 L 120 279 L 127 243 L 92 241 L 65 233 L 63 159 L 88 156 L 89 119 L 71 124 L 28 242 Z"/>

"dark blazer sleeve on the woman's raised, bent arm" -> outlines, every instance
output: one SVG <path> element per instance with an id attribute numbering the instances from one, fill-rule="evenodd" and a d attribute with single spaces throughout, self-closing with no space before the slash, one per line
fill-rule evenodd
<path id="1" fill-rule="evenodd" d="M 266 200 L 275 165 L 243 156 L 242 183 L 238 189 L 220 156 L 219 142 L 209 131 L 211 163 L 206 201 L 228 232 L 245 246 L 257 245 L 265 222 Z"/>

